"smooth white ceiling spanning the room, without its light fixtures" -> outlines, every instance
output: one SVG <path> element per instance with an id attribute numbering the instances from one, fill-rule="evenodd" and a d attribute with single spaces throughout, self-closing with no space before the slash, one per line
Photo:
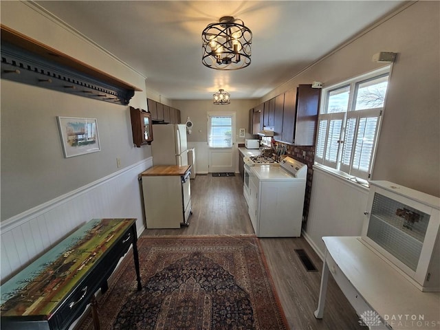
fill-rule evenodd
<path id="1" fill-rule="evenodd" d="M 261 98 L 404 1 L 36 1 L 131 65 L 170 100 Z M 252 63 L 201 63 L 201 31 L 220 17 L 252 30 Z M 311 83 L 311 82 L 309 82 Z M 141 87 L 142 88 L 142 87 Z"/>

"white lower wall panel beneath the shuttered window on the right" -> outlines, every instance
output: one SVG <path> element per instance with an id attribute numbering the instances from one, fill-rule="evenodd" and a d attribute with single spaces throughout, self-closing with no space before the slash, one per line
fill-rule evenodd
<path id="1" fill-rule="evenodd" d="M 314 166 L 309 217 L 303 235 L 321 259 L 322 236 L 360 236 L 369 189 Z"/>

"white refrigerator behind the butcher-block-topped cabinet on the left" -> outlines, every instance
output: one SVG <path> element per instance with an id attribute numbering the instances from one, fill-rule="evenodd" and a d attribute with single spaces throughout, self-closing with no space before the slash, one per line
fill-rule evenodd
<path id="1" fill-rule="evenodd" d="M 154 124 L 151 142 L 153 165 L 188 165 L 184 124 Z"/>

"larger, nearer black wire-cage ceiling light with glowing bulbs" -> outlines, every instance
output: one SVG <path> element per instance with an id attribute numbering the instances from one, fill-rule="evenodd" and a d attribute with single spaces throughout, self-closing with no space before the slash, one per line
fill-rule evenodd
<path id="1" fill-rule="evenodd" d="M 201 32 L 201 63 L 217 70 L 236 70 L 250 65 L 252 32 L 241 19 L 221 17 Z"/>

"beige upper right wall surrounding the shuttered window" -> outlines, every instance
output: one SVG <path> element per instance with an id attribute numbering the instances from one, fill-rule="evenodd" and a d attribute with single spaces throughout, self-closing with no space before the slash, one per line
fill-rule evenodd
<path id="1" fill-rule="evenodd" d="M 373 63 L 373 54 L 397 52 L 373 179 L 440 197 L 439 49 L 440 2 L 417 1 L 274 89 L 261 101 L 314 80 L 330 86 L 371 72 L 384 65 Z"/>

